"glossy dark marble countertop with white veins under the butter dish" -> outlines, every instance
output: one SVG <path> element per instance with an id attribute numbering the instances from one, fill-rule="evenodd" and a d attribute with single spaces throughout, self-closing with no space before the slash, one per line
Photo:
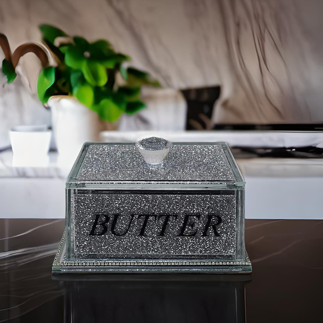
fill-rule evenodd
<path id="1" fill-rule="evenodd" d="M 64 220 L 0 219 L 0 322 L 318 322 L 323 221 L 246 220 L 251 275 L 56 275 Z"/>

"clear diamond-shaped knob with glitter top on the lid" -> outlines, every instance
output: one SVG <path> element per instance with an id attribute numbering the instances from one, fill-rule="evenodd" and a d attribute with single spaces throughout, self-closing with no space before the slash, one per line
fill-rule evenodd
<path id="1" fill-rule="evenodd" d="M 148 164 L 157 165 L 169 153 L 172 142 L 163 138 L 151 137 L 137 141 L 135 147 Z"/>

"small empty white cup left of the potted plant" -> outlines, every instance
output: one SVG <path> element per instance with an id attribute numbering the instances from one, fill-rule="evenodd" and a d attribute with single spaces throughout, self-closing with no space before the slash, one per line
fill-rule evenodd
<path id="1" fill-rule="evenodd" d="M 51 131 L 47 125 L 15 126 L 9 131 L 13 166 L 47 166 Z"/>

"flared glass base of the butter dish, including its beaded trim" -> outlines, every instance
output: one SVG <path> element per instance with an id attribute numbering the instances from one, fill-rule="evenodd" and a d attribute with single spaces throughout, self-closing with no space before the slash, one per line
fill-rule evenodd
<path id="1" fill-rule="evenodd" d="M 120 259 L 66 259 L 65 232 L 58 246 L 52 266 L 53 274 L 83 273 L 221 273 L 249 274 L 251 262 L 245 252 L 245 261 L 239 260 L 120 260 Z"/>

